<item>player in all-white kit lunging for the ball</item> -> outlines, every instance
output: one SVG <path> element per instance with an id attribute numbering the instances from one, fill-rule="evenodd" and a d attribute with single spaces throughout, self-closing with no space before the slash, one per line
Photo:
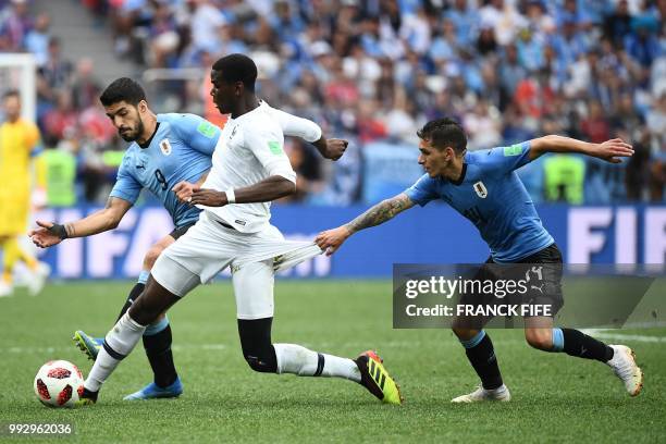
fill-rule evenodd
<path id="1" fill-rule="evenodd" d="M 213 101 L 231 113 L 201 186 L 182 183 L 178 197 L 203 209 L 199 221 L 166 248 L 130 310 L 104 338 L 86 379 L 82 405 L 97 400 L 99 390 L 160 313 L 226 267 L 232 269 L 238 333 L 251 369 L 303 377 L 356 381 L 374 396 L 400 404 L 395 381 L 373 351 L 356 359 L 273 344 L 273 284 L 282 269 L 321 252 L 313 243 L 284 240 L 269 223 L 270 202 L 295 192 L 296 174 L 283 150 L 284 136 L 255 95 L 257 66 L 243 54 L 226 55 L 211 72 Z"/>

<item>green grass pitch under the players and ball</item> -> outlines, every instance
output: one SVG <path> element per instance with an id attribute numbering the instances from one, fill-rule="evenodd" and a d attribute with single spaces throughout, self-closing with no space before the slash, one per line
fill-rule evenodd
<path id="1" fill-rule="evenodd" d="M 645 372 L 637 398 L 604 365 L 536 351 L 521 331 L 493 330 L 514 399 L 451 405 L 477 377 L 449 331 L 392 329 L 388 281 L 279 281 L 273 341 L 349 357 L 377 348 L 403 387 L 402 407 L 383 405 L 349 381 L 252 372 L 240 354 L 227 283 L 199 287 L 170 313 L 185 384 L 180 399 L 122 400 L 150 380 L 139 345 L 96 406 L 41 406 L 33 392 L 39 367 L 67 359 L 87 374 L 91 363 L 70 337 L 76 329 L 106 332 L 131 286 L 52 284 L 38 297 L 0 299 L 0 422 L 73 423 L 76 434 L 58 442 L 638 443 L 666 435 L 666 329 L 606 332 L 632 335 L 622 342 Z"/>

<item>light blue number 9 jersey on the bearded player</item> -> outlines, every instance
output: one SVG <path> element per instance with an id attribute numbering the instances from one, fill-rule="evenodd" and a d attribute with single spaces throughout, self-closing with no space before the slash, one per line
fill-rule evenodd
<path id="1" fill-rule="evenodd" d="M 134 203 L 141 188 L 164 205 L 176 227 L 196 222 L 198 208 L 178 201 L 171 190 L 181 181 L 196 182 L 210 170 L 220 128 L 194 114 L 158 114 L 158 128 L 147 147 L 132 143 L 118 170 L 111 197 Z"/>

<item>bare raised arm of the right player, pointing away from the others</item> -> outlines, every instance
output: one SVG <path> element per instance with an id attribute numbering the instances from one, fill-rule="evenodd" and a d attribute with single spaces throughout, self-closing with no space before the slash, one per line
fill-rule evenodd
<path id="1" fill-rule="evenodd" d="M 534 160 L 546 152 L 579 152 L 605 160 L 606 162 L 620 163 L 620 158 L 633 155 L 633 148 L 619 138 L 606 140 L 602 144 L 590 144 L 556 135 L 530 140 L 530 160 Z"/>

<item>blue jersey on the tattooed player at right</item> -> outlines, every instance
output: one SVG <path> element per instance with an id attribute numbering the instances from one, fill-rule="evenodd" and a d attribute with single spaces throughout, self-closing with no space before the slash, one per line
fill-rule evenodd
<path id="1" fill-rule="evenodd" d="M 494 261 L 519 261 L 554 243 L 515 172 L 529 151 L 523 141 L 468 152 L 457 182 L 424 174 L 405 193 L 421 207 L 443 199 L 477 226 Z"/>

